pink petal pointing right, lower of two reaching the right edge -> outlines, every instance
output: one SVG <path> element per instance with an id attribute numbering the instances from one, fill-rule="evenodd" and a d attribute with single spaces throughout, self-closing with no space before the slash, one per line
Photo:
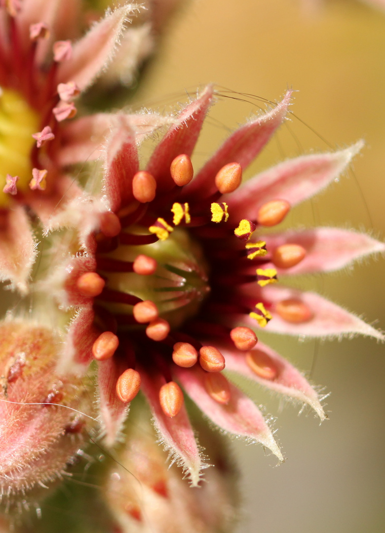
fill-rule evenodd
<path id="1" fill-rule="evenodd" d="M 269 303 L 269 311 L 272 320 L 266 327 L 266 331 L 284 333 L 288 335 L 309 335 L 311 337 L 342 337 L 344 335 L 369 335 L 384 340 L 381 332 L 366 324 L 354 314 L 342 309 L 315 293 L 302 292 L 289 287 L 269 287 L 258 289 L 255 285 L 244 285 L 242 292 L 248 297 L 256 297 L 259 301 Z M 313 313 L 313 318 L 301 324 L 293 324 L 280 318 L 274 311 L 274 305 L 283 300 L 300 300 L 306 304 Z M 271 305 L 271 307 L 270 307 Z M 256 326 L 255 320 L 245 317 L 247 325 Z"/>

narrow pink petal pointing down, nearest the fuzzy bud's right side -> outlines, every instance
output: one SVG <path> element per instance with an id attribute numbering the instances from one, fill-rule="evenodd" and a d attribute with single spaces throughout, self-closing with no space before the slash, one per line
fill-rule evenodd
<path id="1" fill-rule="evenodd" d="M 126 370 L 116 357 L 98 362 L 98 389 L 103 442 L 109 448 L 114 446 L 129 414 L 130 404 L 119 400 L 116 394 L 118 377 Z"/>

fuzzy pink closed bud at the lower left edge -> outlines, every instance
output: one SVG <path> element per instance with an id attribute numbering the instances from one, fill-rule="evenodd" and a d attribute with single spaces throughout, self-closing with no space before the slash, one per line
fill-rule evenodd
<path id="1" fill-rule="evenodd" d="M 74 463 L 91 429 L 92 395 L 81 377 L 57 374 L 52 330 L 3 322 L 0 338 L 0 486 L 12 508 L 46 496 Z"/>

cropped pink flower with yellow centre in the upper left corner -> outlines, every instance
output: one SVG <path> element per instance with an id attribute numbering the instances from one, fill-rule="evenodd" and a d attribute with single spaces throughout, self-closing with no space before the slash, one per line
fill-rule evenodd
<path id="1" fill-rule="evenodd" d="M 126 3 L 108 10 L 82 35 L 88 14 L 81 0 L 70 8 L 38 0 L 0 4 L 0 279 L 10 280 L 22 294 L 28 292 L 36 259 L 36 240 L 22 206 L 44 223 L 62 204 L 64 192 L 66 199 L 76 197 L 67 166 L 97 159 L 116 120 L 129 118 L 108 113 L 77 118 L 77 101 L 114 64 L 119 41 L 140 30 L 128 26 L 137 11 Z M 149 52 L 142 39 L 135 39 L 135 51 L 121 46 L 131 69 Z M 159 127 L 156 114 L 132 116 L 130 124 L 135 119 L 138 134 Z"/>

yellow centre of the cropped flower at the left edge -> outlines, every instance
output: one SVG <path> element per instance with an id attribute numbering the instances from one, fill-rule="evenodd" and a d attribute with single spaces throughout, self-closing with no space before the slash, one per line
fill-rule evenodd
<path id="1" fill-rule="evenodd" d="M 3 192 L 6 175 L 19 176 L 18 190 L 25 190 L 32 178 L 30 151 L 36 142 L 39 116 L 16 91 L 0 88 L 0 207 L 9 203 Z"/>

